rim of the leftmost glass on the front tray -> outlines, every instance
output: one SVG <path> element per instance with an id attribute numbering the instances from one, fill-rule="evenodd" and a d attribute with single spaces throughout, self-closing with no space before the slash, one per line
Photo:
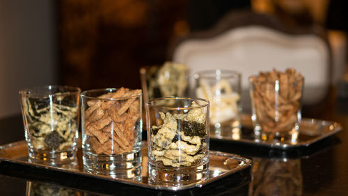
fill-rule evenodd
<path id="1" fill-rule="evenodd" d="M 38 90 L 43 90 L 43 89 L 47 89 L 47 90 L 52 90 L 52 89 L 57 89 L 57 88 L 63 88 L 66 89 L 67 91 L 65 92 L 61 92 L 59 94 L 56 93 L 37 93 L 35 91 Z M 68 95 L 72 95 L 72 94 L 79 94 L 81 93 L 81 89 L 77 86 L 68 86 L 68 85 L 42 85 L 42 86 L 33 86 L 33 87 L 29 87 L 26 89 L 22 89 L 19 92 L 19 95 L 21 96 L 28 96 L 28 97 L 42 97 L 42 96 L 68 96 Z"/>

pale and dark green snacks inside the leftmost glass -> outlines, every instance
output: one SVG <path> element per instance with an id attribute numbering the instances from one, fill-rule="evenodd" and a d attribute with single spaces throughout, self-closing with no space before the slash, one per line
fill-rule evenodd
<path id="1" fill-rule="evenodd" d="M 77 137 L 79 105 L 55 93 L 47 98 L 23 98 L 23 111 L 35 149 L 63 151 L 72 146 Z"/>

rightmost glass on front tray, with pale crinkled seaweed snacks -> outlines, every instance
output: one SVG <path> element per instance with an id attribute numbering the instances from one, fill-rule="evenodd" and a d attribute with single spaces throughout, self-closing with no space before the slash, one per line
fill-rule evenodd
<path id="1" fill-rule="evenodd" d="M 145 109 L 150 182 L 180 186 L 206 179 L 209 101 L 157 98 L 145 103 Z"/>

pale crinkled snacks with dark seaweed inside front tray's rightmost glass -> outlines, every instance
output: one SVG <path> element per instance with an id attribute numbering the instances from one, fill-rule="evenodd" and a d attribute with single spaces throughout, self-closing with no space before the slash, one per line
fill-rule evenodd
<path id="1" fill-rule="evenodd" d="M 195 102 L 191 107 L 198 106 Z M 205 113 L 194 108 L 187 114 L 159 112 L 163 123 L 151 128 L 152 158 L 166 166 L 195 165 L 207 156 Z"/>

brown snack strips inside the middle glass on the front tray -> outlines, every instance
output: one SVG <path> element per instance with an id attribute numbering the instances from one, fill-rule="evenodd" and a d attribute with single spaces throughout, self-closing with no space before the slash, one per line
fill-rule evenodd
<path id="1" fill-rule="evenodd" d="M 139 89 L 122 87 L 98 96 L 100 100 L 87 101 L 83 118 L 84 134 L 88 137 L 84 140 L 93 153 L 114 155 L 132 151 L 141 134 L 137 131 L 141 126 L 139 94 Z M 110 98 L 115 99 L 103 100 Z"/>

